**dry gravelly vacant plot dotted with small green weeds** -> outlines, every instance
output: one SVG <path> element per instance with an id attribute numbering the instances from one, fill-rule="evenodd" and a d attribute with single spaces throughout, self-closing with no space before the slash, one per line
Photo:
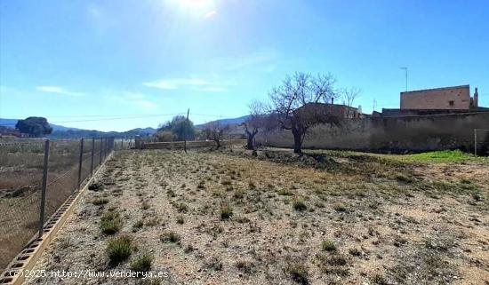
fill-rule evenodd
<path id="1" fill-rule="evenodd" d="M 28 283 L 486 285 L 489 168 L 272 149 L 118 152 L 35 269 L 169 277 Z"/>

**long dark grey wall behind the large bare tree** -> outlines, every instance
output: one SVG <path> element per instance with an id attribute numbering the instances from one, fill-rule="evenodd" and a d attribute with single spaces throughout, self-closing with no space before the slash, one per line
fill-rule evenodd
<path id="1" fill-rule="evenodd" d="M 474 129 L 489 129 L 489 113 L 352 119 L 343 123 L 342 128 L 315 127 L 306 137 L 304 147 L 383 153 L 472 151 Z M 481 139 L 489 146 L 489 132 Z M 265 146 L 293 147 L 291 131 L 259 134 L 256 141 Z"/>

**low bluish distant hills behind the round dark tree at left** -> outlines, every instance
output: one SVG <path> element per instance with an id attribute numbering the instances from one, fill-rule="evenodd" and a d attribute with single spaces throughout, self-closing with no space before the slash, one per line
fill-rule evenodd
<path id="1" fill-rule="evenodd" d="M 2 119 L 0 118 L 0 126 L 15 129 L 17 119 Z M 50 139 L 76 139 L 76 138 L 98 138 L 98 137 L 116 137 L 116 138 L 131 138 L 135 136 L 151 136 L 156 132 L 154 128 L 137 128 L 130 131 L 96 131 L 83 130 L 77 128 L 69 128 L 57 124 L 50 123 L 52 134 L 47 136 Z"/>

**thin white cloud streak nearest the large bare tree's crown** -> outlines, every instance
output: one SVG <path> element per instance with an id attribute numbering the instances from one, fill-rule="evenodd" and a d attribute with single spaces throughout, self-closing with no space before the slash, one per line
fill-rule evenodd
<path id="1" fill-rule="evenodd" d="M 209 82 L 201 78 L 172 78 L 142 84 L 146 87 L 163 90 L 189 89 L 193 91 L 227 91 L 226 88 L 220 86 L 220 84 Z"/>

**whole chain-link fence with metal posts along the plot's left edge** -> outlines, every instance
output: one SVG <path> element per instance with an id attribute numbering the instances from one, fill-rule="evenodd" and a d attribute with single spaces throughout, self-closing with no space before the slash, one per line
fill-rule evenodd
<path id="1" fill-rule="evenodd" d="M 92 177 L 114 142 L 103 138 L 0 143 L 0 273 Z"/>

